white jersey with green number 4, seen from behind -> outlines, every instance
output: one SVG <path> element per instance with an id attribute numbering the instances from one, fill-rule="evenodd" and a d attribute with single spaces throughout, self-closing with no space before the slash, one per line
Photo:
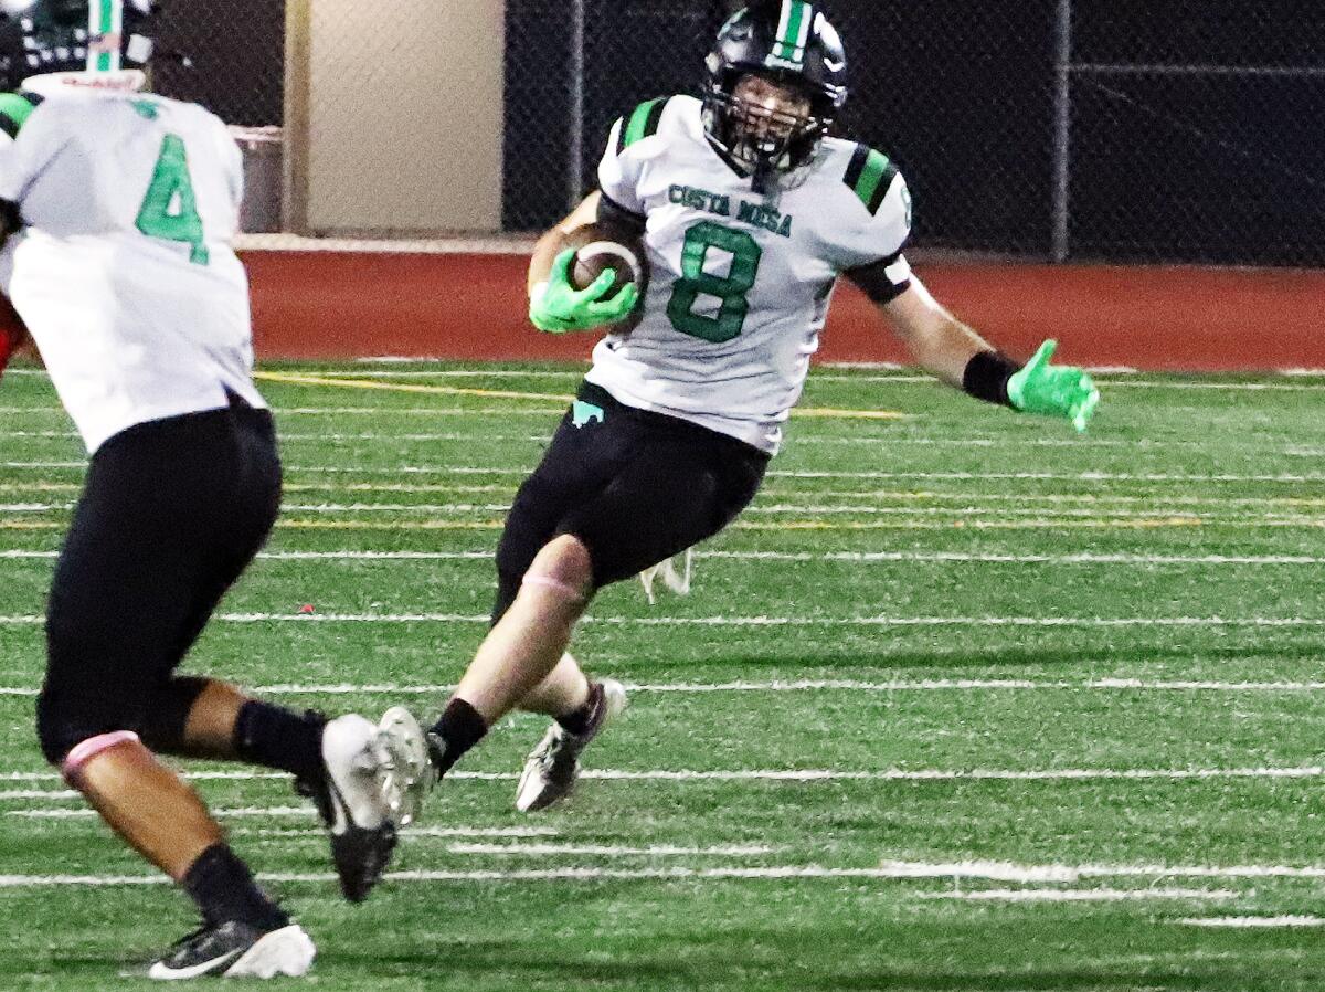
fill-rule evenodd
<path id="1" fill-rule="evenodd" d="M 240 151 L 193 103 L 131 92 L 0 94 L 0 200 L 23 227 L 0 289 L 89 452 L 144 420 L 265 406 L 231 249 Z"/>

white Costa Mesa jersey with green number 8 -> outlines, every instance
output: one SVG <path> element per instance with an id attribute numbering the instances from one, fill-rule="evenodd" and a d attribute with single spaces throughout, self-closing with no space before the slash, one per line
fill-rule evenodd
<path id="1" fill-rule="evenodd" d="M 843 272 L 898 292 L 910 198 L 886 156 L 828 138 L 803 180 L 763 198 L 709 143 L 693 97 L 616 122 L 599 187 L 647 220 L 640 324 L 594 349 L 587 378 L 620 402 L 775 452 Z"/>

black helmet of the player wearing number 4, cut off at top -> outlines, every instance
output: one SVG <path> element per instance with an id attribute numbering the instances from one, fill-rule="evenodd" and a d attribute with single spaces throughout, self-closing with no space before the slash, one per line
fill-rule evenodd
<path id="1" fill-rule="evenodd" d="M 152 0 L 0 0 L 7 89 L 46 73 L 140 69 L 152 57 Z"/>

